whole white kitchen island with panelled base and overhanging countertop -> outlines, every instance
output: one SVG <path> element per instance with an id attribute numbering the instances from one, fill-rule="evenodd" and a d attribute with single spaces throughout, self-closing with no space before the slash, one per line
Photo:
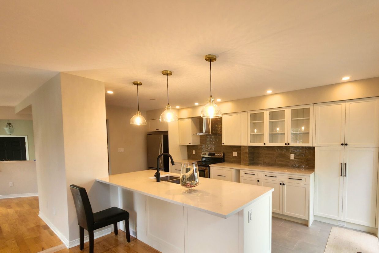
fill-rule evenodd
<path id="1" fill-rule="evenodd" d="M 271 252 L 273 188 L 200 178 L 197 192 L 188 194 L 180 184 L 149 178 L 154 173 L 97 179 L 118 188 L 112 192 L 130 213 L 136 238 L 162 253 Z M 179 177 L 168 172 L 161 177 L 168 174 Z"/>

